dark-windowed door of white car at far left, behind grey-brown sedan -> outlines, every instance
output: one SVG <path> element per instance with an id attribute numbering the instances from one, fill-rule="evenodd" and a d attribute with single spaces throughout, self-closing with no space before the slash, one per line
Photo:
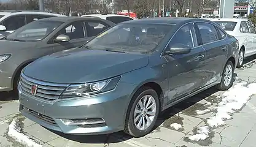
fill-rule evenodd
<path id="1" fill-rule="evenodd" d="M 2 22 L 2 25 L 6 26 L 6 32 L 14 32 L 16 29 L 21 28 L 25 25 L 25 15 L 15 15 L 9 18 L 6 18 Z"/>

